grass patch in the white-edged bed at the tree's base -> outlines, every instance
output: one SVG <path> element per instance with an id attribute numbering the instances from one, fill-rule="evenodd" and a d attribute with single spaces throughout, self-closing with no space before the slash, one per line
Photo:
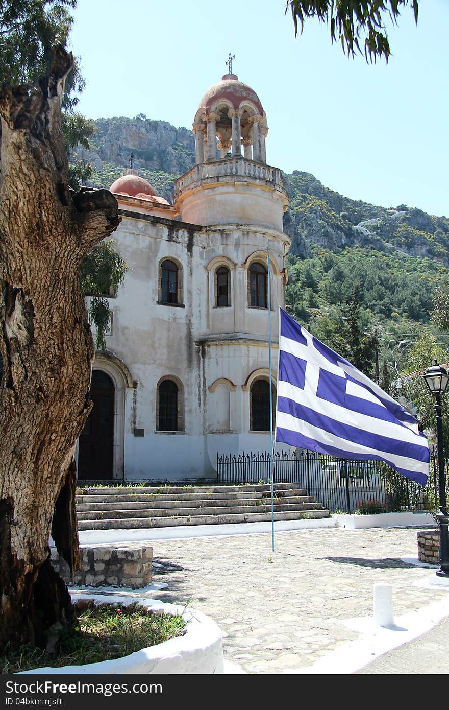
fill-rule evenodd
<path id="1" fill-rule="evenodd" d="M 185 633 L 182 616 L 156 614 L 137 603 L 113 606 L 84 600 L 77 610 L 77 623 L 61 630 L 54 653 L 29 644 L 6 648 L 0 673 L 112 660 Z"/>

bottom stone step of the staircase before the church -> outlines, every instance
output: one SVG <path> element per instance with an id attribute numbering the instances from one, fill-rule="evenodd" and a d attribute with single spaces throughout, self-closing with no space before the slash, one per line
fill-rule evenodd
<path id="1" fill-rule="evenodd" d="M 275 513 L 276 520 L 310 520 L 328 518 L 328 510 L 305 510 Z M 179 525 L 227 525 L 233 523 L 265 523 L 271 520 L 271 513 L 237 513 L 232 515 L 177 515 L 165 518 L 102 518 L 101 520 L 79 520 L 79 530 L 132 530 L 133 528 L 169 528 Z"/>

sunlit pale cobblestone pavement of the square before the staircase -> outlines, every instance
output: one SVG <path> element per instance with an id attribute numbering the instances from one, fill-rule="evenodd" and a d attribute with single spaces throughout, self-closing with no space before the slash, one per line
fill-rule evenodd
<path id="1" fill-rule="evenodd" d="M 415 581 L 429 569 L 401 562 L 417 554 L 416 528 L 292 530 L 153 540 L 155 599 L 214 618 L 228 660 L 248 673 L 312 665 L 357 638 L 342 621 L 372 615 L 373 585 L 392 584 L 395 615 L 447 598 Z"/>

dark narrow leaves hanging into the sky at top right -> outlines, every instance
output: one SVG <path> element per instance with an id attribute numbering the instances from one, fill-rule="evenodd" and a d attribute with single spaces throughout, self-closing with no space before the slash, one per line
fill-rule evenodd
<path id="1" fill-rule="evenodd" d="M 286 13 L 292 12 L 295 35 L 304 30 L 307 18 L 317 17 L 331 31 L 332 42 L 340 41 L 343 51 L 365 53 L 371 62 L 390 55 L 385 19 L 397 23 L 406 6 L 418 23 L 418 0 L 288 0 Z"/>

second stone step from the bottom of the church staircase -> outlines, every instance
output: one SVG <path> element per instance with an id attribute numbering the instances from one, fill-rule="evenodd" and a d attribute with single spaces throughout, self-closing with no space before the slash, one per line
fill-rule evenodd
<path id="1" fill-rule="evenodd" d="M 287 505 L 277 505 L 275 510 L 291 511 L 295 510 L 299 513 L 305 510 L 322 509 L 321 503 L 291 503 Z M 235 515 L 245 513 L 267 513 L 271 510 L 271 504 L 263 504 L 261 506 L 221 506 L 213 508 L 141 508 L 140 510 L 89 510 L 78 513 L 78 520 L 101 520 L 108 518 L 109 520 L 118 520 L 119 518 L 179 518 L 179 517 L 195 517 L 197 515 Z"/>

